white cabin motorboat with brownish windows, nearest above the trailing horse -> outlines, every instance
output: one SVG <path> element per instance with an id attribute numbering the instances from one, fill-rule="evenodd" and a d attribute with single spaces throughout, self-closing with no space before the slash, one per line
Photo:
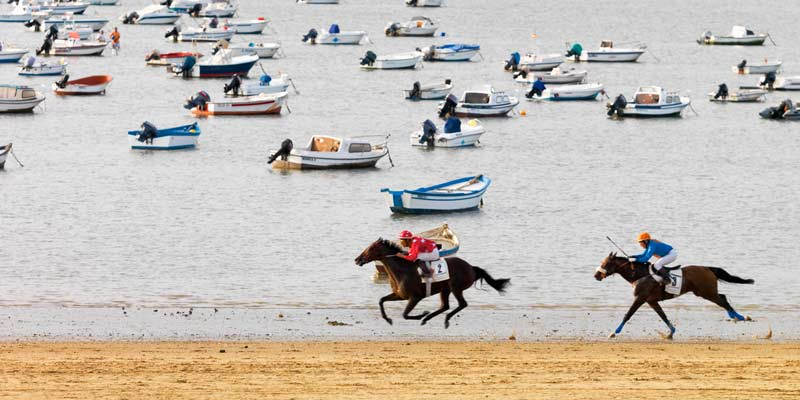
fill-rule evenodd
<path id="1" fill-rule="evenodd" d="M 619 95 L 608 105 L 608 115 L 616 112 L 620 117 L 672 117 L 681 115 L 690 104 L 689 97 L 677 92 L 667 92 L 659 86 L 642 86 L 634 93 L 633 102 L 628 103 Z"/>

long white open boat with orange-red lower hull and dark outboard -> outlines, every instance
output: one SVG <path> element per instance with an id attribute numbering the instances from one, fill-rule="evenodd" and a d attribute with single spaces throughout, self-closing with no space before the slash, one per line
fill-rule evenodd
<path id="1" fill-rule="evenodd" d="M 203 102 L 197 104 L 197 96 L 189 99 L 185 108 L 190 108 L 192 114 L 198 117 L 211 115 L 266 115 L 280 114 L 281 108 L 286 104 L 289 93 L 261 93 L 256 96 L 231 97 L 223 101 L 211 101 L 205 92 Z M 198 93 L 198 95 L 200 95 Z"/>

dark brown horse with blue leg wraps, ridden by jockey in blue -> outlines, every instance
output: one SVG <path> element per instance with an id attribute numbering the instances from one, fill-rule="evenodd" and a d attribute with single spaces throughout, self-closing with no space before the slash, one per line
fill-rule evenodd
<path id="1" fill-rule="evenodd" d="M 665 335 L 666 339 L 672 339 L 672 334 L 675 333 L 675 327 L 667 319 L 664 310 L 658 302 L 663 300 L 674 299 L 684 293 L 694 293 L 695 296 L 702 297 L 728 311 L 728 316 L 737 321 L 749 320 L 737 313 L 736 310 L 728 303 L 728 299 L 724 294 L 717 291 L 718 281 L 729 283 L 744 283 L 752 284 L 752 279 L 742 279 L 738 276 L 733 276 L 722 268 L 716 267 L 703 267 L 699 265 L 687 265 L 681 268 L 683 272 L 683 285 L 681 287 L 681 294 L 673 295 L 667 293 L 664 286 L 656 282 L 650 274 L 650 268 L 647 264 L 628 261 L 626 257 L 617 257 L 617 253 L 608 253 L 608 256 L 603 260 L 603 263 L 597 267 L 594 278 L 602 281 L 608 276 L 618 274 L 633 285 L 633 304 L 622 319 L 617 330 L 614 331 L 609 337 L 615 337 L 622 332 L 622 327 L 625 323 L 636 313 L 636 310 L 647 303 L 650 308 L 658 314 L 659 317 L 669 327 L 669 334 Z"/>

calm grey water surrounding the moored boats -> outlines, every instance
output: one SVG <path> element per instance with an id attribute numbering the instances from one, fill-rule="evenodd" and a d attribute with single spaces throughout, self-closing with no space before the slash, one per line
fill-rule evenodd
<path id="1" fill-rule="evenodd" d="M 373 308 L 389 289 L 372 283 L 370 267 L 355 267 L 353 258 L 379 236 L 447 221 L 461 239 L 461 257 L 513 283 L 506 296 L 470 291 L 473 307 L 622 310 L 629 286 L 619 278 L 598 283 L 592 274 L 614 250 L 606 235 L 636 251 L 635 234 L 648 230 L 673 244 L 681 263 L 755 278 L 755 286 L 723 286 L 735 307 L 796 311 L 798 126 L 757 114 L 788 95 L 770 94 L 765 104 L 705 100 L 723 81 L 735 87 L 757 80 L 730 71 L 742 58 L 777 57 L 784 73 L 800 73 L 792 12 L 722 1 L 643 7 L 453 0 L 446 8 L 418 10 L 401 0 L 338 6 L 286 0 L 270 8 L 242 0 L 242 17 L 273 21 L 286 57 L 262 65 L 294 78 L 300 95 L 290 96 L 292 113 L 203 119 L 196 150 L 150 153 L 131 151 L 126 131 L 144 120 L 159 127 L 191 123 L 183 99 L 198 90 L 219 97 L 225 81 L 185 81 L 146 67 L 149 50 L 190 45 L 163 41 L 163 27 L 118 24 L 117 16 L 147 3 L 123 1 L 89 11 L 120 26 L 121 54 L 68 59 L 72 77 L 113 75 L 107 95 L 48 93 L 44 111 L 0 115 L 0 142 L 13 141 L 25 164 L 9 160 L 0 172 L 2 306 L 55 315 L 69 310 L 63 305 Z M 383 36 L 388 22 L 417 14 L 434 18 L 447 37 Z M 333 22 L 368 31 L 374 44 L 300 42 L 309 28 Z M 724 33 L 734 23 L 769 30 L 779 46 L 694 42 L 705 29 Z M 403 100 L 402 89 L 413 81 L 449 77 L 458 94 L 492 83 L 522 98 L 525 87 L 501 68 L 511 51 L 561 52 L 566 40 L 594 48 L 606 38 L 640 40 L 651 53 L 634 64 L 582 64 L 589 82 L 602 82 L 611 96 L 630 97 L 639 85 L 682 90 L 699 115 L 687 110 L 679 119 L 612 121 L 601 101 L 523 101 L 525 117 L 483 120 L 488 133 L 479 148 L 424 151 L 408 144 L 408 133 L 436 108 Z M 0 24 L 0 39 L 41 44 L 41 34 L 16 24 Z M 358 68 L 369 49 L 380 54 L 447 42 L 478 43 L 483 59 L 425 63 L 415 71 Z M 49 92 L 54 80 L 17 77 L 14 66 L 0 65 L 0 82 L 41 84 Z M 391 134 L 395 167 L 386 160 L 361 171 L 279 173 L 267 166 L 268 151 L 284 138 L 304 143 L 319 133 Z M 477 173 L 493 179 L 479 212 L 396 216 L 379 193 Z M 722 316 L 689 296 L 671 304 Z"/>

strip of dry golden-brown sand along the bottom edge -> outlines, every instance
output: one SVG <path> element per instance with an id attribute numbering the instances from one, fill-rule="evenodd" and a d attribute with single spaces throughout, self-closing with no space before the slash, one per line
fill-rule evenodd
<path id="1" fill-rule="evenodd" d="M 1 398 L 797 399 L 800 343 L 20 342 Z"/>

